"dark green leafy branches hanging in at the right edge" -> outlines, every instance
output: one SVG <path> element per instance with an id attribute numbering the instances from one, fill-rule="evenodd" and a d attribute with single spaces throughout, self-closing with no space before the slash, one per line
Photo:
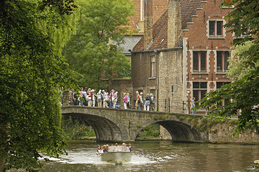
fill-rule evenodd
<path id="1" fill-rule="evenodd" d="M 233 44 L 244 45 L 247 41 L 252 44 L 249 49 L 240 52 L 239 56 L 247 60 L 244 62 L 244 68 L 250 67 L 247 74 L 234 83 L 222 86 L 213 92 L 209 92 L 200 102 L 198 108 L 210 108 L 208 115 L 218 119 L 227 118 L 242 110 L 238 117 L 238 124 L 233 130 L 233 134 L 240 134 L 243 129 L 256 129 L 259 131 L 258 119 L 259 108 L 253 110 L 253 105 L 259 104 L 259 67 L 255 63 L 259 59 L 259 3 L 257 0 L 231 0 L 224 1 L 222 6 L 232 6 L 234 10 L 230 12 L 225 19 L 229 19 L 224 27 L 231 28 L 229 32 L 235 32 L 236 39 Z M 245 35 L 241 38 L 241 35 Z M 222 100 L 232 99 L 232 102 L 225 106 L 215 104 Z"/>

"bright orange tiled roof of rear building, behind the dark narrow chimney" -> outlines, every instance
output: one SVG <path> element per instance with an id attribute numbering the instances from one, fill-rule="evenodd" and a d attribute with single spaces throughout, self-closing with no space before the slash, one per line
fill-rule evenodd
<path id="1" fill-rule="evenodd" d="M 144 0 L 143 0 L 144 1 Z M 133 0 L 136 12 L 134 16 L 130 17 L 130 25 L 128 25 L 130 31 L 137 29 L 136 24 L 140 21 L 140 0 Z M 153 24 L 162 16 L 162 14 L 167 10 L 168 0 L 153 0 Z M 133 35 L 144 35 L 143 32 L 133 33 Z"/>

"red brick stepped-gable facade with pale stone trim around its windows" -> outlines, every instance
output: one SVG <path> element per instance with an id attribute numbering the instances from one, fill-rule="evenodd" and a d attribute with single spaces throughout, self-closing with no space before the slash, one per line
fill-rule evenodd
<path id="1" fill-rule="evenodd" d="M 192 16 L 192 23 L 187 23 L 187 28 L 183 30 L 183 54 L 184 54 L 184 99 L 192 100 L 192 82 L 207 82 L 207 92 L 216 89 L 217 81 L 232 81 L 226 72 L 217 72 L 217 51 L 232 51 L 230 45 L 233 40 L 232 33 L 226 33 L 229 28 L 223 28 L 223 36 L 209 37 L 209 20 L 223 20 L 223 25 L 228 22 L 224 20 L 232 8 L 219 8 L 222 1 L 202 1 L 201 6 L 196 9 L 197 14 Z M 216 27 L 215 27 L 216 29 Z M 193 71 L 193 51 L 207 52 L 207 69 L 204 72 Z M 187 83 L 187 81 L 189 82 Z M 188 91 L 188 93 L 187 93 Z M 205 114 L 205 111 L 197 111 L 197 114 Z"/>

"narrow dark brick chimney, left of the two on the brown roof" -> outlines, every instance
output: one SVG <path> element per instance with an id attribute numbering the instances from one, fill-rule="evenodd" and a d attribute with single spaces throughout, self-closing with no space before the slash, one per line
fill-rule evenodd
<path id="1" fill-rule="evenodd" d="M 153 1 L 144 0 L 144 50 L 153 40 L 152 27 L 153 27 Z"/>

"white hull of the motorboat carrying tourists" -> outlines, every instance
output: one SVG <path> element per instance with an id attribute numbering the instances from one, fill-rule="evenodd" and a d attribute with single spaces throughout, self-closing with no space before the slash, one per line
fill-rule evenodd
<path id="1" fill-rule="evenodd" d="M 120 164 L 126 161 L 131 161 L 132 152 L 105 152 L 100 156 L 101 161 L 113 162 Z"/>

